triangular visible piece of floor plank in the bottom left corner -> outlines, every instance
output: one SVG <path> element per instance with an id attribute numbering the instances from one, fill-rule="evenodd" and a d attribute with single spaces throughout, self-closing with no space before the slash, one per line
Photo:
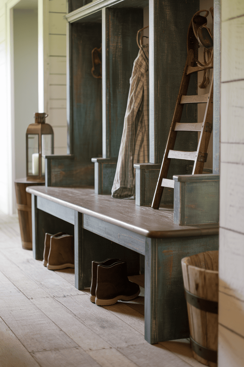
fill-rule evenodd
<path id="1" fill-rule="evenodd" d="M 14 335 L 4 321 L 0 320 L 0 365 L 1 367 L 38 367 L 40 366 Z"/>

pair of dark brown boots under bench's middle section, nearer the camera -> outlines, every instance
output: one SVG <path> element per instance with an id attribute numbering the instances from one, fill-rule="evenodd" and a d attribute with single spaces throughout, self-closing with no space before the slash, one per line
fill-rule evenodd
<path id="1" fill-rule="evenodd" d="M 129 281 L 127 264 L 120 259 L 92 262 L 91 302 L 98 306 L 113 305 L 117 301 L 131 301 L 140 293 L 138 284 Z"/>

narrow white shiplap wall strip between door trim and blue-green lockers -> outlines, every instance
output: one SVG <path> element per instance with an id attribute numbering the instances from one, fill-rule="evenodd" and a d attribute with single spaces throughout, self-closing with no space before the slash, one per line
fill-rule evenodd
<path id="1" fill-rule="evenodd" d="M 65 0 L 49 0 L 48 118 L 54 132 L 54 153 L 67 154 Z"/>

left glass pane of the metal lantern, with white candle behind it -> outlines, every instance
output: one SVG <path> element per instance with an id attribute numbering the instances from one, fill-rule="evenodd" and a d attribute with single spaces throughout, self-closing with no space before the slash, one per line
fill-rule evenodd
<path id="1" fill-rule="evenodd" d="M 39 141 L 38 134 L 28 134 L 28 175 L 38 176 L 39 169 Z"/>

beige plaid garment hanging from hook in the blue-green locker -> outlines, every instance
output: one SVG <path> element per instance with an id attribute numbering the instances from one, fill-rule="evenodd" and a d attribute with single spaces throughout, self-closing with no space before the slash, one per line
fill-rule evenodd
<path id="1" fill-rule="evenodd" d="M 129 80 L 124 128 L 112 187 L 117 198 L 135 196 L 134 163 L 149 161 L 149 55 L 148 44 L 140 47 Z"/>

